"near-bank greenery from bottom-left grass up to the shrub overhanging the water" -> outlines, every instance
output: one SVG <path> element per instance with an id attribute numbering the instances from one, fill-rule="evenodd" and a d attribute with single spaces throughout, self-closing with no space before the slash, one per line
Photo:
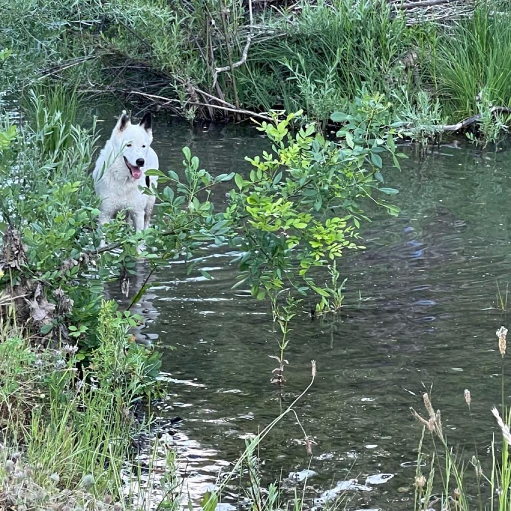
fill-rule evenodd
<path id="1" fill-rule="evenodd" d="M 152 273 L 205 244 L 234 247 L 242 255 L 232 284 L 269 298 L 276 316 L 286 297 L 295 305 L 303 295 L 329 297 L 321 268 L 360 246 L 364 201 L 399 211 L 385 199 L 397 190 L 383 185 L 382 159 L 399 167 L 397 128 L 388 126 L 388 102 L 366 94 L 350 113 L 336 113 L 352 119 L 340 144 L 313 124 L 292 131 L 300 111 L 261 122 L 272 154 L 249 159 L 247 174 L 213 176 L 185 147 L 182 169 L 148 171 L 159 182 L 149 192 L 158 199 L 154 227 L 134 234 L 122 215 L 100 227 L 87 174 L 96 126 L 77 122 L 83 98 L 76 88 L 33 87 L 21 118 L 6 115 L 0 132 L 9 183 L 0 190 L 0 470 L 3 503 L 18 509 L 132 502 L 121 474 L 142 470 L 130 461 L 129 439 L 151 421 L 161 365 L 158 351 L 130 334 L 141 320 L 131 306 L 146 290 L 129 285 L 140 257 Z M 355 121 L 367 111 L 371 122 Z M 105 302 L 112 283 L 131 298 L 124 310 Z"/>

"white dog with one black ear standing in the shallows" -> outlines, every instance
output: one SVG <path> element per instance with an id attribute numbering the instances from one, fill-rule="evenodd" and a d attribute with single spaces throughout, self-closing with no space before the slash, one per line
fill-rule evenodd
<path id="1" fill-rule="evenodd" d="M 92 172 L 101 200 L 100 223 L 126 210 L 135 231 L 149 227 L 155 197 L 144 194 L 143 189 L 156 186 L 158 179 L 145 175 L 148 169 L 158 170 L 158 156 L 150 147 L 152 141 L 151 115 L 146 114 L 140 124 L 131 124 L 123 110 Z"/>

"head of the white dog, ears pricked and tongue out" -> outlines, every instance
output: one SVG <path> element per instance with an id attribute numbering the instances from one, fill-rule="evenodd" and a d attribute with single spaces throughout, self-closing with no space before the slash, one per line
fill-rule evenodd
<path id="1" fill-rule="evenodd" d="M 126 172 L 129 172 L 133 179 L 139 179 L 142 176 L 142 167 L 146 165 L 149 146 L 153 141 L 151 113 L 146 113 L 140 124 L 131 124 L 126 110 L 123 110 L 113 128 L 110 140 L 115 153 L 122 155 Z"/>

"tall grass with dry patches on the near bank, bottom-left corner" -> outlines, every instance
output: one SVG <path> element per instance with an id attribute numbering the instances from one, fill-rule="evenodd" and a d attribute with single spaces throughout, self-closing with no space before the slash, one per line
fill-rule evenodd
<path id="1" fill-rule="evenodd" d="M 131 438 L 145 426 L 132 410 L 146 383 L 112 303 L 103 304 L 99 322 L 102 343 L 83 374 L 75 347 L 41 351 L 28 332 L 3 322 L 1 508 L 60 509 L 58 503 L 73 502 L 124 508 L 121 470 L 130 464 Z"/>

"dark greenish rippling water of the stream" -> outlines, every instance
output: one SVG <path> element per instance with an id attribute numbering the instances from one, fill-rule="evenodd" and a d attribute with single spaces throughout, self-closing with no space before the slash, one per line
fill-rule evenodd
<path id="1" fill-rule="evenodd" d="M 153 147 L 162 170 L 182 168 L 184 145 L 215 175 L 248 169 L 245 155 L 267 147 L 252 129 L 156 122 Z M 135 312 L 146 318 L 141 335 L 164 354 L 171 383 L 158 415 L 163 424 L 182 418 L 169 428 L 195 503 L 237 459 L 244 439 L 307 386 L 312 359 L 316 381 L 296 406 L 316 444 L 312 460 L 288 416 L 261 447 L 267 482 L 281 471 L 286 477 L 310 469 L 311 499 L 357 478 L 348 509 L 411 509 L 421 428 L 409 407 L 422 412 L 421 396 L 431 385 L 453 445 L 472 449 L 475 442 L 485 452 L 497 432 L 490 408 L 500 402 L 495 331 L 508 326 L 495 306 L 497 282 L 504 292 L 509 280 L 511 155 L 463 144 L 440 146 L 421 159 L 411 148 L 406 152 L 402 171 L 385 174 L 387 185 L 400 190 L 394 202 L 401 215 L 368 205 L 374 220 L 364 226 L 367 249 L 346 254 L 340 264 L 348 277 L 342 317 L 298 316 L 282 391 L 270 384 L 275 361 L 269 355 L 277 354 L 278 337 L 268 304 L 230 290 L 238 272 L 232 254 L 214 246 L 201 254 L 197 266 L 212 281 L 198 270 L 187 275 L 182 263 L 157 274 Z M 465 388 L 472 393 L 471 415 Z M 225 498 L 237 505 L 232 495 Z"/>

